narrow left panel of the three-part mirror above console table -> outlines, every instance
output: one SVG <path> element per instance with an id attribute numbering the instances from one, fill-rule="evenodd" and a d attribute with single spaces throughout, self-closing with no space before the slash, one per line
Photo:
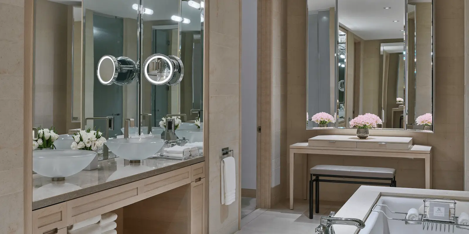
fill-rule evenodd
<path id="1" fill-rule="evenodd" d="M 308 98 L 306 112 L 308 129 L 335 127 L 335 89 L 339 85 L 335 85 L 334 50 L 336 40 L 334 37 L 336 33 L 334 19 L 335 0 L 308 0 Z M 343 65 L 344 58 L 341 60 L 340 65 Z M 340 71 L 344 71 L 341 66 L 339 66 L 339 74 Z M 345 82 L 339 83 L 343 89 Z M 342 91 L 342 99 L 344 98 L 343 93 Z M 343 119 L 340 123 L 342 122 L 344 122 Z"/>

